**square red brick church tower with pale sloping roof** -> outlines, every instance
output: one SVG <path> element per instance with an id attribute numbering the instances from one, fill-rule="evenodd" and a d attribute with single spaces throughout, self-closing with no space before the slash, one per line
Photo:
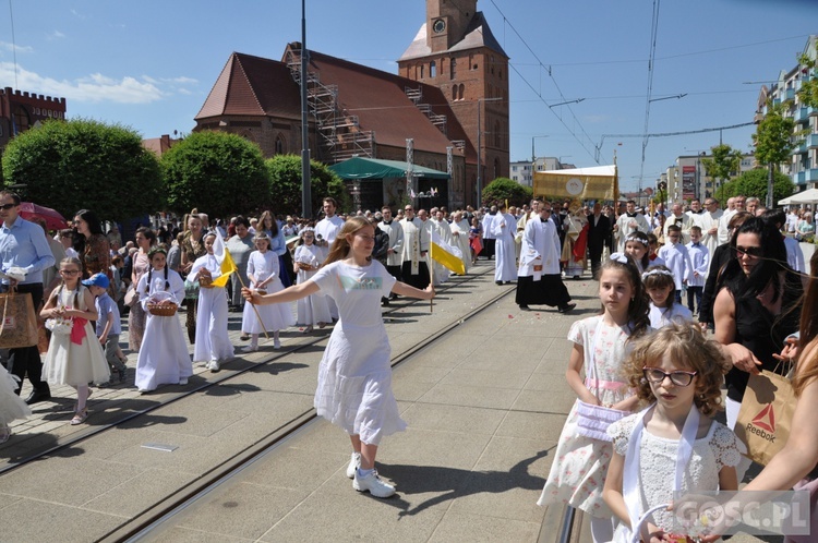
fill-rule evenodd
<path id="1" fill-rule="evenodd" d="M 508 177 L 509 161 L 508 57 L 477 0 L 426 0 L 426 21 L 398 60 L 398 73 L 440 88 L 448 100 L 471 147 L 466 201 L 477 203 L 478 179 L 482 189 Z"/>

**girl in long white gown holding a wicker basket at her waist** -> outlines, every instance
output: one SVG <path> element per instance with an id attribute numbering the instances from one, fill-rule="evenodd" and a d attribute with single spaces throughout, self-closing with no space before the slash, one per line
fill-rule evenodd
<path id="1" fill-rule="evenodd" d="M 154 315 L 149 304 L 177 305 L 184 300 L 184 281 L 165 263 L 167 252 L 154 246 L 148 252 L 151 270 L 136 286 L 140 302 L 147 314 L 145 335 L 136 361 L 136 388 L 140 393 L 156 390 L 159 385 L 187 385 L 193 375 L 193 363 L 177 315 Z"/>

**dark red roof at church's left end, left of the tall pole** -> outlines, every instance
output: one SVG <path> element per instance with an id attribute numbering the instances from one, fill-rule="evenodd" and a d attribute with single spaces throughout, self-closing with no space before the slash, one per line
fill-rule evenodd
<path id="1" fill-rule="evenodd" d="M 236 116 L 301 118 L 301 94 L 287 64 L 233 52 L 194 120 Z"/>

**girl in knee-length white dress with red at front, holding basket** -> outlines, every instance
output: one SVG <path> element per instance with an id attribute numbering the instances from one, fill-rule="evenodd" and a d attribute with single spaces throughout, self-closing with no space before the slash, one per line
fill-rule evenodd
<path id="1" fill-rule="evenodd" d="M 39 316 L 51 330 L 43 375 L 49 385 L 71 385 L 76 389 L 76 406 L 71 424 L 88 418 L 88 383 L 110 379 L 110 367 L 89 321 L 97 319 L 94 294 L 80 282 L 82 263 L 64 258 L 60 263 L 62 282 L 51 291 Z"/>

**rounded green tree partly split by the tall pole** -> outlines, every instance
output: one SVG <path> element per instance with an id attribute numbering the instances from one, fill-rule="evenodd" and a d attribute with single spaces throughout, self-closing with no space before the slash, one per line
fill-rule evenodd
<path id="1" fill-rule="evenodd" d="M 301 157 L 276 155 L 264 161 L 269 174 L 269 191 L 276 214 L 301 215 Z M 313 217 L 322 200 L 334 197 L 340 209 L 348 209 L 344 182 L 326 165 L 310 160 L 310 198 Z M 339 209 L 339 210 L 340 210 Z"/>

